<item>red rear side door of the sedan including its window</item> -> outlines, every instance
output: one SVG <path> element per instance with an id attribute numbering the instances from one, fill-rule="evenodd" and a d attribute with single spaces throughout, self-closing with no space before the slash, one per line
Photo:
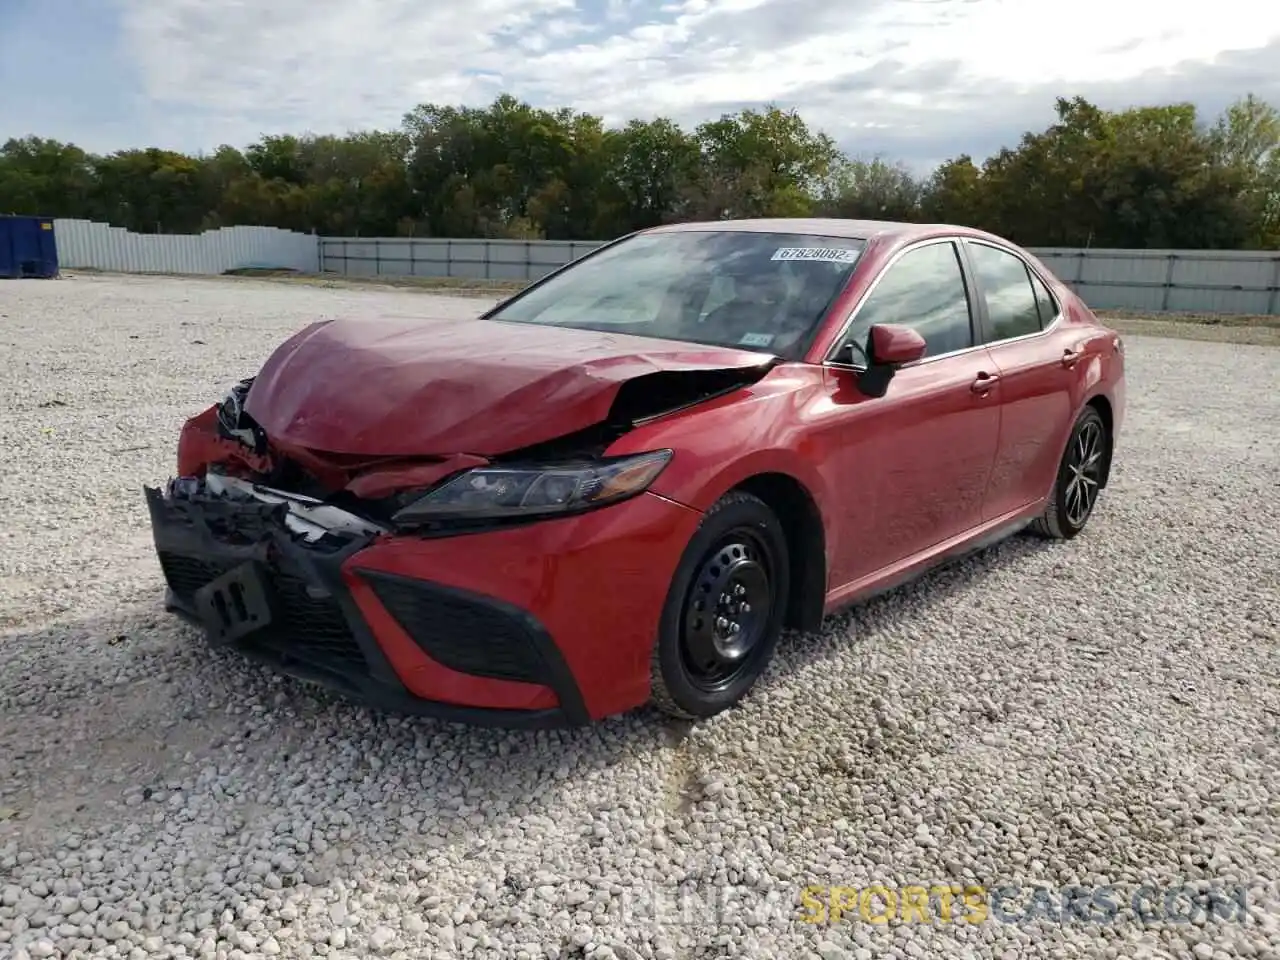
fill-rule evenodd
<path id="1" fill-rule="evenodd" d="M 986 241 L 963 246 L 978 291 L 980 339 L 1000 374 L 1000 443 L 983 506 L 983 518 L 995 520 L 1053 485 L 1082 344 L 1028 261 Z"/>

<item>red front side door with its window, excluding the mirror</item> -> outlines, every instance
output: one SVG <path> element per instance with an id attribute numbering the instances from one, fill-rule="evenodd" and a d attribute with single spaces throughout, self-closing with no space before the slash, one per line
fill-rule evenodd
<path id="1" fill-rule="evenodd" d="M 883 397 L 863 394 L 856 370 L 828 366 L 828 471 L 838 492 L 833 589 L 978 526 L 1000 431 L 1001 383 L 975 346 L 954 241 L 910 247 L 891 261 L 845 340 L 865 343 L 874 324 L 910 326 L 927 349 Z"/>

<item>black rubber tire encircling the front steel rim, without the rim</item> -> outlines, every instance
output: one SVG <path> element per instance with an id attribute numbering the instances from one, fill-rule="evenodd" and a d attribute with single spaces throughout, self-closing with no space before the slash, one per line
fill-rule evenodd
<path id="1" fill-rule="evenodd" d="M 739 526 L 754 527 L 768 545 L 772 570 L 773 598 L 769 620 L 759 646 L 751 652 L 754 664 L 741 677 L 723 690 L 709 692 L 694 685 L 681 657 L 681 628 L 685 600 L 694 585 L 694 576 L 708 550 L 727 531 Z M 791 593 L 791 568 L 786 534 L 777 516 L 763 500 L 740 497 L 712 508 L 701 526 L 690 539 L 676 568 L 658 626 L 658 668 L 666 692 L 675 704 L 692 717 L 710 717 L 737 703 L 768 667 L 777 648 L 786 618 L 787 599 Z"/>

